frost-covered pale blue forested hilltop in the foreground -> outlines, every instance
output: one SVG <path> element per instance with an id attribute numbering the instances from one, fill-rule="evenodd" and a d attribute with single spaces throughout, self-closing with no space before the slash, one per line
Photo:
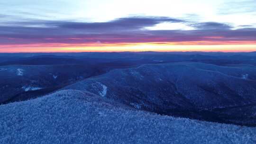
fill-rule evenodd
<path id="1" fill-rule="evenodd" d="M 80 90 L 0 106 L 0 144 L 255 144 L 256 128 L 160 116 Z"/>

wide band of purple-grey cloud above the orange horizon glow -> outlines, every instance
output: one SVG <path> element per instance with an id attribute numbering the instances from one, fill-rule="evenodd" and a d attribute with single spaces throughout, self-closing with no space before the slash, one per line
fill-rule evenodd
<path id="1" fill-rule="evenodd" d="M 148 30 L 159 23 L 183 23 L 195 30 Z M 17 44 L 123 44 L 186 43 L 228 44 L 230 41 L 256 41 L 256 28 L 232 30 L 230 24 L 195 23 L 168 17 L 118 18 L 109 22 L 27 20 L 0 26 L 0 45 Z M 96 42 L 96 43 L 95 43 Z"/>

